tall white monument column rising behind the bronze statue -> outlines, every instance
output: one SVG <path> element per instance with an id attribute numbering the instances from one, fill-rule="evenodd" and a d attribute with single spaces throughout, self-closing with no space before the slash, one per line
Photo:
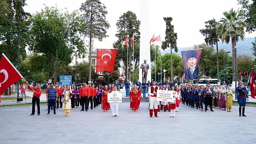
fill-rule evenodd
<path id="1" fill-rule="evenodd" d="M 141 0 L 141 24 L 140 24 L 140 65 L 147 60 L 149 64 L 148 75 L 146 83 L 148 80 L 151 82 L 151 62 L 150 62 L 150 35 L 149 35 L 149 0 Z M 142 69 L 139 72 L 139 81 L 142 80 Z"/>

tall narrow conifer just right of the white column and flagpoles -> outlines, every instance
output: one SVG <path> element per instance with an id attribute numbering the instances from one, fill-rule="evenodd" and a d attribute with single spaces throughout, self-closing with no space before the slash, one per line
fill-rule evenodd
<path id="1" fill-rule="evenodd" d="M 176 40 L 178 39 L 177 33 L 174 32 L 174 25 L 171 24 L 172 17 L 164 17 L 166 23 L 165 30 L 165 41 L 162 42 L 162 49 L 165 50 L 167 48 L 171 48 L 171 79 L 173 79 L 173 65 L 172 65 L 172 49 L 177 53 L 178 47 Z"/>

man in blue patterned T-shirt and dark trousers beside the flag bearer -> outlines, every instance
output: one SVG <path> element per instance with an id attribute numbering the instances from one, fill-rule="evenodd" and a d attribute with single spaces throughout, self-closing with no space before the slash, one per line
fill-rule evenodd
<path id="1" fill-rule="evenodd" d="M 48 101 L 48 113 L 47 113 L 47 115 L 50 114 L 50 107 L 51 106 L 53 106 L 54 114 L 56 114 L 55 104 L 56 104 L 56 101 L 58 100 L 57 96 L 58 96 L 58 94 L 57 94 L 57 90 L 54 88 L 54 84 L 50 83 L 50 88 L 47 90 L 47 93 L 46 93 L 46 100 Z"/>

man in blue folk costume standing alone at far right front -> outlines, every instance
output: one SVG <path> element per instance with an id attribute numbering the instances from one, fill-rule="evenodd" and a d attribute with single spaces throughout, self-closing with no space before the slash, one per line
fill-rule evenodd
<path id="1" fill-rule="evenodd" d="M 246 87 L 237 87 L 236 88 L 236 96 L 237 96 L 237 102 L 239 104 L 239 117 L 241 117 L 241 109 L 243 109 L 242 115 L 244 117 L 246 117 L 246 115 L 244 115 L 245 106 L 246 106 L 246 98 L 249 99 L 248 94 L 246 92 Z"/>

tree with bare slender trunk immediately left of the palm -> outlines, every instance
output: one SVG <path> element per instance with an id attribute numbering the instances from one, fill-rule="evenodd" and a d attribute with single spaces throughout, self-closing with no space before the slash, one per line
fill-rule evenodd
<path id="1" fill-rule="evenodd" d="M 207 45 L 215 45 L 216 44 L 216 49 L 217 49 L 217 78 L 219 82 L 219 56 L 218 56 L 218 42 L 219 38 L 217 35 L 217 30 L 216 26 L 218 25 L 218 22 L 213 18 L 209 21 L 205 22 L 205 29 L 199 30 L 201 34 L 205 37 L 204 41 Z"/>

